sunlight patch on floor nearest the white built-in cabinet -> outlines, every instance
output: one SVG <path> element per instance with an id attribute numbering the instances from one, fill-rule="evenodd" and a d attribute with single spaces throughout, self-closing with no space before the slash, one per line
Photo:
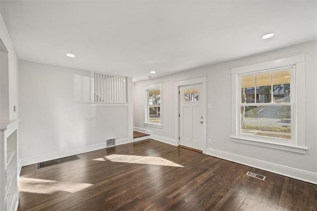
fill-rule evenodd
<path id="1" fill-rule="evenodd" d="M 36 194 L 53 194 L 60 191 L 76 193 L 93 186 L 89 183 L 58 182 L 54 180 L 20 177 L 19 191 Z"/>

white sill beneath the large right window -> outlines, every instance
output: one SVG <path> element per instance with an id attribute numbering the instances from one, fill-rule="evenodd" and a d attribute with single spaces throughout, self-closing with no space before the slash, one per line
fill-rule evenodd
<path id="1" fill-rule="evenodd" d="M 308 148 L 304 148 L 304 147 L 283 145 L 283 144 L 277 144 L 277 143 L 269 143 L 269 142 L 263 142 L 263 141 L 235 137 L 235 136 L 230 136 L 230 138 L 231 138 L 231 141 L 237 142 L 237 143 L 250 144 L 250 145 L 267 147 L 267 148 L 272 148 L 272 149 L 276 149 L 276 150 L 284 150 L 284 151 L 300 153 L 300 154 L 306 154 L 306 151 L 308 150 Z"/>

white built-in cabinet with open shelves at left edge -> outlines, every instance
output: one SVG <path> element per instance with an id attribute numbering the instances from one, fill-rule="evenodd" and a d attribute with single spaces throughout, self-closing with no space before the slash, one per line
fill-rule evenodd
<path id="1" fill-rule="evenodd" d="M 16 210 L 18 206 L 18 122 L 0 121 L 0 211 Z"/>

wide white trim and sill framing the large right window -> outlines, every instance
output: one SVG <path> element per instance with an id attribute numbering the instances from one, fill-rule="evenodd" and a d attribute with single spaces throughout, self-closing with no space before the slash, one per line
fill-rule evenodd
<path id="1" fill-rule="evenodd" d="M 294 117 L 292 119 L 293 134 L 292 142 L 281 142 L 274 138 L 261 138 L 252 135 L 240 134 L 240 110 L 238 109 L 240 99 L 240 82 L 239 76 L 244 73 L 256 73 L 263 70 L 277 69 L 280 67 L 294 66 L 295 85 L 293 93 L 295 97 L 294 103 Z M 295 153 L 305 154 L 308 148 L 305 145 L 305 53 L 297 53 L 288 56 L 278 57 L 262 62 L 247 64 L 239 67 L 231 68 L 231 140 L 233 142 L 256 145 L 261 147 L 273 148 L 278 150 L 290 151 Z M 298 95 L 298 93 L 302 93 Z M 239 120 L 239 121 L 238 121 Z"/>

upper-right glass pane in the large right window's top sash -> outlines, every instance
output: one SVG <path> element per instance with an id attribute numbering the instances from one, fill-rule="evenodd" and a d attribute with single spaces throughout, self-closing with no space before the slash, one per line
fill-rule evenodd
<path id="1" fill-rule="evenodd" d="M 273 72 L 273 102 L 290 103 L 291 102 L 291 71 L 283 70 Z"/>

